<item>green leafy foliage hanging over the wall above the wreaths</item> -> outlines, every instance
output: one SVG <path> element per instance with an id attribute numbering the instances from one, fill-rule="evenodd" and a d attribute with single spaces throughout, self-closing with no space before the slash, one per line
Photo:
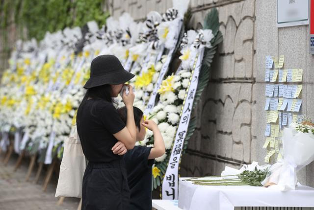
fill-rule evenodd
<path id="1" fill-rule="evenodd" d="M 14 23 L 27 28 L 27 37 L 41 40 L 46 31 L 54 32 L 65 27 L 83 26 L 95 20 L 99 25 L 109 16 L 104 12 L 104 0 L 2 0 L 0 29 L 9 25 L 11 14 Z M 22 28 L 22 29 L 21 29 Z"/>

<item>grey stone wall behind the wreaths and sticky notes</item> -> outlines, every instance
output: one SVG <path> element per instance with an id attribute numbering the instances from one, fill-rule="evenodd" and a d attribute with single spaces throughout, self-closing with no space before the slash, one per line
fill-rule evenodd
<path id="1" fill-rule="evenodd" d="M 303 68 L 301 113 L 314 118 L 314 58 L 308 54 L 308 26 L 276 27 L 276 0 L 190 0 L 191 25 L 219 11 L 224 41 L 211 68 L 209 85 L 194 112 L 199 119 L 181 162 L 182 176 L 217 175 L 225 165 L 263 163 L 265 56 L 285 55 L 285 69 Z M 171 0 L 112 0 L 111 14 L 129 12 L 136 20 L 151 10 L 164 12 Z M 314 163 L 300 171 L 314 186 Z"/>

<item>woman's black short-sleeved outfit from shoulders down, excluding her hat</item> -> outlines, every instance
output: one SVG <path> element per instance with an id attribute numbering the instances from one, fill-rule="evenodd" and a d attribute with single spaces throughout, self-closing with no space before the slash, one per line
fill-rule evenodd
<path id="1" fill-rule="evenodd" d="M 122 156 L 111 148 L 113 134 L 126 125 L 112 103 L 89 99 L 78 109 L 77 128 L 88 165 L 83 177 L 82 210 L 128 210 L 130 190 Z"/>

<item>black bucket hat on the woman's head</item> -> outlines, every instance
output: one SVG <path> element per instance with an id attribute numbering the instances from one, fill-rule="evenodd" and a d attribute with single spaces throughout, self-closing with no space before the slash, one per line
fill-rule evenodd
<path id="1" fill-rule="evenodd" d="M 84 88 L 93 88 L 105 84 L 118 85 L 128 82 L 135 75 L 126 71 L 114 55 L 99 55 L 90 65 L 90 78 Z"/>

